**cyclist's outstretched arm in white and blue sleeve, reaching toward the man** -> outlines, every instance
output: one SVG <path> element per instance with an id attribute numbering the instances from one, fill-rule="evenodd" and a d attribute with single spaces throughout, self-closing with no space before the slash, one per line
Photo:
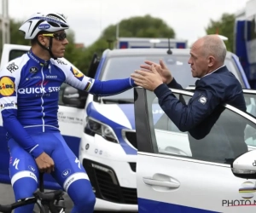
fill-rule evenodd
<path id="1" fill-rule="evenodd" d="M 136 86 L 131 78 L 100 81 L 84 76 L 82 72 L 71 66 L 61 65 L 60 68 L 65 72 L 66 83 L 74 88 L 85 90 L 95 95 L 116 95 Z"/>

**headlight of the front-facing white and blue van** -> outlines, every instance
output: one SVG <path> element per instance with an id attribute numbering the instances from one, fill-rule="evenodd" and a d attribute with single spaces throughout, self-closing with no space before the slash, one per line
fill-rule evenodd
<path id="1" fill-rule="evenodd" d="M 107 124 L 102 124 L 100 121 L 97 121 L 94 118 L 86 118 L 86 126 L 84 128 L 84 133 L 94 136 L 102 135 L 107 141 L 118 143 L 117 136 L 114 134 L 113 129 Z"/>

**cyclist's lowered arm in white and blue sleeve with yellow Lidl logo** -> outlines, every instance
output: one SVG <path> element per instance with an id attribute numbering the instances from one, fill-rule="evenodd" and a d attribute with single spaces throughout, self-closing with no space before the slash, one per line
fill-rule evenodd
<path id="1" fill-rule="evenodd" d="M 31 153 L 34 158 L 37 158 L 44 152 L 43 149 L 32 140 L 32 137 L 27 134 L 26 130 L 17 119 L 16 89 L 18 88 L 19 80 L 20 68 L 15 70 L 15 72 L 9 72 L 9 70 L 4 67 L 0 71 L 0 105 L 3 127 L 26 152 Z"/>

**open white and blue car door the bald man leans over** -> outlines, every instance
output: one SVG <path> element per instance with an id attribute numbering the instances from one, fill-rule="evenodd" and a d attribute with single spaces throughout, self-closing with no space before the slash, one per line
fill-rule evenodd
<path id="1" fill-rule="evenodd" d="M 193 95 L 172 92 L 186 103 Z M 253 116 L 227 105 L 219 107 L 206 131 L 181 132 L 153 92 L 136 88 L 135 117 L 140 213 L 255 212 L 256 182 L 230 169 L 233 158 L 249 150 L 247 144 L 256 146 Z"/>

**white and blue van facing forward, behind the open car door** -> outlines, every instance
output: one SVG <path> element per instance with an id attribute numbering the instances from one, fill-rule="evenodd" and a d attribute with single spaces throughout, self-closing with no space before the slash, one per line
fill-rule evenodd
<path id="1" fill-rule="evenodd" d="M 162 59 L 172 70 L 173 76 L 184 88 L 195 85 L 196 78 L 190 74 L 189 49 L 114 49 L 106 50 L 94 78 L 109 80 L 127 78 L 138 69 L 144 60 L 159 62 Z M 227 54 L 225 65 L 245 89 L 249 89 L 247 78 L 236 55 Z M 186 78 L 184 78 L 184 76 Z M 79 148 L 79 159 L 90 177 L 96 193 L 96 210 L 137 211 L 137 147 L 138 131 L 135 121 L 133 89 L 119 95 L 97 97 L 88 95 L 84 115 L 84 135 Z M 136 109 L 137 110 L 137 109 Z M 145 112 L 145 106 L 140 112 Z M 152 108 L 155 116 L 164 112 L 156 103 Z M 146 121 L 141 121 L 146 124 Z M 175 127 L 173 127 L 175 128 Z M 176 128 L 177 129 L 177 128 Z M 148 132 L 140 132 L 143 136 Z M 166 133 L 159 130 L 162 143 Z M 168 137 L 177 138 L 177 147 L 172 152 L 191 156 L 188 135 L 168 132 Z M 160 149 L 165 149 L 163 145 Z M 171 152 L 170 147 L 165 152 Z"/>

